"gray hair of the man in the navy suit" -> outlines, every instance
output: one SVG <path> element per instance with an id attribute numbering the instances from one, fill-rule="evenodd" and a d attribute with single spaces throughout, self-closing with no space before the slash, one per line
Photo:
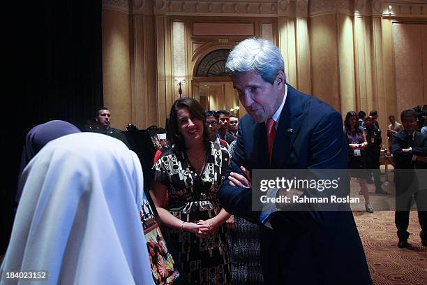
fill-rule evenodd
<path id="1" fill-rule="evenodd" d="M 285 73 L 285 63 L 280 50 L 271 41 L 246 38 L 230 52 L 225 71 L 228 75 L 255 71 L 262 79 L 273 84 L 279 71 Z"/>

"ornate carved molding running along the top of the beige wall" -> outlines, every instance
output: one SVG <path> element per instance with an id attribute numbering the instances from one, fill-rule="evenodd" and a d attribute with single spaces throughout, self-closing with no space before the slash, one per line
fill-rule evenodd
<path id="1" fill-rule="evenodd" d="M 103 10 L 133 15 L 427 17 L 424 0 L 103 0 Z"/>

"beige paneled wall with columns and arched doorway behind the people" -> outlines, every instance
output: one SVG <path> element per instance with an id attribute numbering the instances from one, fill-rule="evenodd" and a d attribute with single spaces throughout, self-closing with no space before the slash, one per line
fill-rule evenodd
<path id="1" fill-rule="evenodd" d="M 103 10 L 104 98 L 113 126 L 163 126 L 179 96 L 175 80 L 184 78 L 183 96 L 193 96 L 200 61 L 248 36 L 270 38 L 290 84 L 343 116 L 378 110 L 384 130 L 389 114 L 427 102 L 427 5 L 391 3 L 389 13 L 380 0 L 208 2 L 140 0 L 129 2 L 128 13 Z"/>

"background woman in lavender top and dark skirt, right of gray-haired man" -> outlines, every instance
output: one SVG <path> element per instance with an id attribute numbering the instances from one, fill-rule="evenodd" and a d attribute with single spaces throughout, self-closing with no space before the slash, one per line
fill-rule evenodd
<path id="1" fill-rule="evenodd" d="M 369 190 L 368 184 L 366 183 L 366 177 L 364 175 L 364 153 L 368 142 L 364 128 L 359 126 L 357 122 L 357 114 L 354 111 L 347 112 L 344 120 L 344 133 L 347 138 L 348 144 L 348 169 L 354 169 L 356 171 L 350 171 L 352 177 L 357 177 L 360 185 L 361 192 L 365 198 L 365 209 L 366 212 L 373 213 L 373 207 L 369 203 Z"/>

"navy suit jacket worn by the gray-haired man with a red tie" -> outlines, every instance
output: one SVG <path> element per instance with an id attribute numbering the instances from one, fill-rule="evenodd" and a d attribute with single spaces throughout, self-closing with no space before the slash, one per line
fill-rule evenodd
<path id="1" fill-rule="evenodd" d="M 271 166 L 267 131 L 248 115 L 239 122 L 230 172 L 257 169 L 347 168 L 342 118 L 326 103 L 287 85 Z M 292 132 L 288 131 L 292 129 Z M 228 176 L 228 175 L 227 175 Z M 232 214 L 260 224 L 251 211 L 251 189 L 225 180 L 220 202 Z M 261 252 L 267 284 L 371 284 L 352 212 L 275 212 L 274 230 L 261 228 Z"/>

